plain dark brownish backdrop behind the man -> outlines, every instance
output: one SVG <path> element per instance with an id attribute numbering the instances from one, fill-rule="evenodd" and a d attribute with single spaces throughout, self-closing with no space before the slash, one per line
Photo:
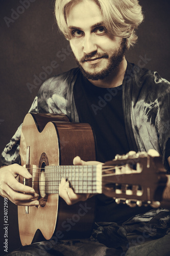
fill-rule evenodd
<path id="1" fill-rule="evenodd" d="M 30 0 L 31 1 L 31 0 Z M 32 0 L 33 2 L 34 0 Z M 1 145 L 5 145 L 15 133 L 43 82 L 42 67 L 51 66 L 57 61 L 58 67 L 53 68 L 50 77 L 76 67 L 75 61 L 66 49 L 69 42 L 58 32 L 55 24 L 54 1 L 35 0 L 27 8 L 19 8 L 23 0 L 1 0 Z M 130 62 L 140 64 L 145 68 L 158 71 L 165 79 L 170 80 L 169 73 L 169 0 L 140 0 L 145 15 L 144 23 L 138 30 L 138 44 L 131 49 L 126 57 Z M 12 9 L 12 10 L 11 10 Z M 10 22 L 13 14 L 14 22 Z M 16 16 L 17 15 L 17 16 Z M 8 17 L 5 21 L 4 17 Z M 7 23 L 8 26 L 7 26 Z M 63 54 L 63 53 L 62 53 Z M 145 63 L 142 59 L 145 58 Z M 39 78 L 38 85 L 34 83 L 35 76 Z M 45 77 L 44 77 L 45 78 Z M 29 90 L 28 83 L 33 84 Z M 4 199 L 0 197 L 1 206 L 1 249 L 4 246 Z M 16 206 L 9 202 L 9 251 L 17 248 L 19 236 L 17 229 Z M 4 251 L 4 250 L 3 250 Z M 0 253 L 1 255 L 2 253 Z"/>

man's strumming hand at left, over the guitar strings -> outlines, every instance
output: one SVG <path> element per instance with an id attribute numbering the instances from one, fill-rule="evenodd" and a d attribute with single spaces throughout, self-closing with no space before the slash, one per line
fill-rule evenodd
<path id="1" fill-rule="evenodd" d="M 38 194 L 32 187 L 19 183 L 16 178 L 20 175 L 30 179 L 32 175 L 25 167 L 12 164 L 0 169 L 0 195 L 8 198 L 16 205 L 39 205 Z"/>

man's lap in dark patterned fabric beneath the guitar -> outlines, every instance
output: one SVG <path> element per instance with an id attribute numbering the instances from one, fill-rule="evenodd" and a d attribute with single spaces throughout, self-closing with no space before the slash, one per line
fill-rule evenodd
<path id="1" fill-rule="evenodd" d="M 55 235 L 53 236 L 55 238 Z M 50 240 L 26 245 L 8 256 L 168 256 L 170 255 L 169 211 L 139 215 L 123 225 L 95 223 L 85 240 Z"/>

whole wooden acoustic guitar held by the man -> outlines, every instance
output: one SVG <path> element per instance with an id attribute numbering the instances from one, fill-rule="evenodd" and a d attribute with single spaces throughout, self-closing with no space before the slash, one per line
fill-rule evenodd
<path id="1" fill-rule="evenodd" d="M 162 200 L 167 178 L 160 157 L 141 152 L 117 155 L 104 165 L 72 165 L 75 156 L 95 160 L 95 151 L 95 136 L 89 124 L 69 122 L 62 114 L 26 115 L 19 154 L 21 165 L 33 178 L 20 176 L 19 182 L 35 189 L 39 206 L 18 206 L 22 245 L 31 244 L 37 230 L 46 240 L 90 236 L 95 197 L 67 205 L 59 197 L 62 177 L 75 193 L 103 193 L 130 206 Z"/>

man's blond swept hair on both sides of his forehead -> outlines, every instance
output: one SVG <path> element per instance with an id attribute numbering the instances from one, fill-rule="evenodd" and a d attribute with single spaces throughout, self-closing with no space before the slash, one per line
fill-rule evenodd
<path id="1" fill-rule="evenodd" d="M 58 27 L 67 39 L 69 31 L 66 22 L 66 12 L 83 0 L 56 0 L 55 15 Z M 137 41 L 136 29 L 143 21 L 143 14 L 138 0 L 92 0 L 99 8 L 104 18 L 107 31 L 115 36 L 127 38 L 127 49 Z"/>

